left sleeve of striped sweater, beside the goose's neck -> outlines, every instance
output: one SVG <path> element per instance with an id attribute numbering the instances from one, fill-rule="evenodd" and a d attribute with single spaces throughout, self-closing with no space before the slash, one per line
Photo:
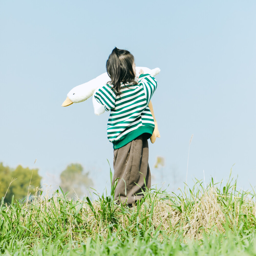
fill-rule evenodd
<path id="1" fill-rule="evenodd" d="M 115 93 L 109 84 L 96 90 L 93 97 L 105 107 L 106 111 L 115 108 Z"/>

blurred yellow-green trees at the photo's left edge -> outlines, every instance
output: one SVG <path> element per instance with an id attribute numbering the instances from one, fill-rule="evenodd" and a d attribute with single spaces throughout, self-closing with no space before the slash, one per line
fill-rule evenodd
<path id="1" fill-rule="evenodd" d="M 15 180 L 12 182 L 13 179 Z M 28 193 L 33 195 L 36 187 L 40 187 L 40 181 L 41 177 L 38 174 L 38 169 L 33 170 L 29 169 L 28 167 L 23 168 L 21 165 L 19 165 L 15 170 L 13 170 L 8 166 L 3 166 L 3 163 L 0 163 L 0 198 L 5 196 L 5 193 L 9 187 L 4 199 L 4 203 L 10 203 L 13 195 L 14 199 L 18 200 L 23 200 Z"/>

